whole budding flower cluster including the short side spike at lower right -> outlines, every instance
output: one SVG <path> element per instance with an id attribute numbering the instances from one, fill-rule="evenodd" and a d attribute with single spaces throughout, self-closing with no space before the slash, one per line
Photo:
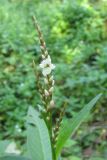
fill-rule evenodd
<path id="1" fill-rule="evenodd" d="M 41 33 L 40 27 L 35 17 L 33 17 L 33 20 L 34 20 L 34 24 L 38 32 L 38 35 L 39 35 L 40 48 L 42 52 L 42 56 L 41 56 L 42 60 L 39 65 L 39 69 L 41 70 L 42 78 L 44 79 L 44 84 L 40 84 L 40 81 L 39 81 L 40 77 L 37 76 L 38 90 L 41 95 L 44 108 L 41 107 L 40 105 L 38 105 L 38 107 L 48 127 L 51 142 L 52 142 L 52 147 L 55 150 L 59 127 L 62 121 L 64 110 L 60 112 L 59 118 L 57 119 L 58 121 L 55 127 L 53 128 L 52 110 L 55 108 L 55 103 L 53 100 L 53 90 L 54 90 L 55 81 L 52 75 L 52 71 L 55 69 L 55 65 L 52 64 L 51 57 L 48 54 L 43 35 Z"/>

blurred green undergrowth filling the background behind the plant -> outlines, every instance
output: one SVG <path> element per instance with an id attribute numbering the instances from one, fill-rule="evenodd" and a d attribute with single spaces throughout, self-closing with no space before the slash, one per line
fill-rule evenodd
<path id="1" fill-rule="evenodd" d="M 63 157 L 106 160 L 107 0 L 0 0 L 0 140 L 14 140 L 24 152 L 26 113 L 40 103 L 32 60 L 38 65 L 41 52 L 32 15 L 56 65 L 57 108 L 66 102 L 70 118 L 103 93 Z"/>

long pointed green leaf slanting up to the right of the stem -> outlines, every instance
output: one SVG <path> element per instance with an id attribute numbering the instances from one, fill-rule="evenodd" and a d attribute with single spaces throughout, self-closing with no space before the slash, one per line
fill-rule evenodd
<path id="1" fill-rule="evenodd" d="M 59 156 L 63 146 L 65 145 L 67 139 L 76 131 L 79 125 L 85 120 L 85 118 L 89 115 L 90 110 L 96 104 L 98 99 L 101 97 L 101 94 L 97 95 L 94 99 L 92 99 L 77 115 L 71 120 L 63 120 L 59 135 L 58 141 L 56 143 L 56 157 Z"/>

